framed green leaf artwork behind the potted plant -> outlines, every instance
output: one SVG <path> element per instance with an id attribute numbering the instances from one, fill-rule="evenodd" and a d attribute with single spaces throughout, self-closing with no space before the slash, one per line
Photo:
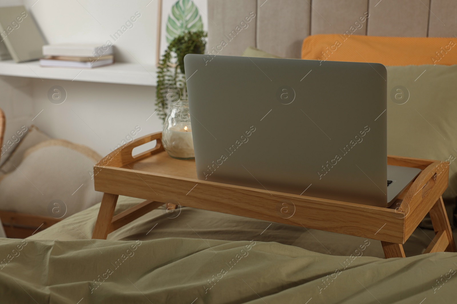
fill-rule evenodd
<path id="1" fill-rule="evenodd" d="M 156 64 L 170 42 L 186 31 L 208 31 L 207 0 L 160 0 Z"/>

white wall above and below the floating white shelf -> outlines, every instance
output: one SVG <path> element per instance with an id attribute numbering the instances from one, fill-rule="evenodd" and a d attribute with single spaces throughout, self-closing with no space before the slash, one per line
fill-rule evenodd
<path id="1" fill-rule="evenodd" d="M 158 0 L 1 0 L 0 6 L 10 5 L 25 5 L 48 43 L 110 40 L 118 62 L 155 64 Z M 110 35 L 137 11 L 141 16 L 133 27 L 114 41 Z M 67 92 L 60 105 L 47 97 L 54 85 Z M 136 125 L 142 128 L 139 136 L 161 130 L 156 114 L 148 119 L 155 111 L 154 101 L 155 88 L 147 86 L 0 78 L 5 139 L 23 124 L 35 124 L 51 137 L 85 144 L 101 155 L 110 153 Z"/>

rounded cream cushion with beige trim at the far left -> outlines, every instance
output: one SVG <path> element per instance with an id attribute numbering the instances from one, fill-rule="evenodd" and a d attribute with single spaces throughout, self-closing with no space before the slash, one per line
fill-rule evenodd
<path id="1" fill-rule="evenodd" d="M 92 149 L 50 139 L 24 153 L 21 164 L 0 177 L 0 210 L 62 218 L 101 201 L 94 190 Z"/>

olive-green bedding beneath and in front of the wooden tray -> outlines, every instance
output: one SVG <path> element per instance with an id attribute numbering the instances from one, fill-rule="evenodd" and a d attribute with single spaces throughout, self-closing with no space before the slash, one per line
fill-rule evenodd
<path id="1" fill-rule="evenodd" d="M 120 197 L 116 214 L 141 200 Z M 456 253 L 383 259 L 379 241 L 165 206 L 90 240 L 100 204 L 0 243 L 10 303 L 453 303 Z M 426 240 L 425 240 L 426 239 Z M 19 271 L 18 271 L 19 270 Z M 448 282 L 449 281 L 449 282 Z M 26 292 L 24 292 L 26 291 Z M 388 291 L 388 292 L 386 292 Z"/>

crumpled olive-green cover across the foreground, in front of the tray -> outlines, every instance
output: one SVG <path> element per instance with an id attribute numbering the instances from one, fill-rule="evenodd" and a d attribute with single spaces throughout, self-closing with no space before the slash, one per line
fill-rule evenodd
<path id="1" fill-rule="evenodd" d="M 456 303 L 457 253 L 385 260 L 363 255 L 371 245 L 340 257 L 255 240 L 0 239 L 0 302 Z"/>

